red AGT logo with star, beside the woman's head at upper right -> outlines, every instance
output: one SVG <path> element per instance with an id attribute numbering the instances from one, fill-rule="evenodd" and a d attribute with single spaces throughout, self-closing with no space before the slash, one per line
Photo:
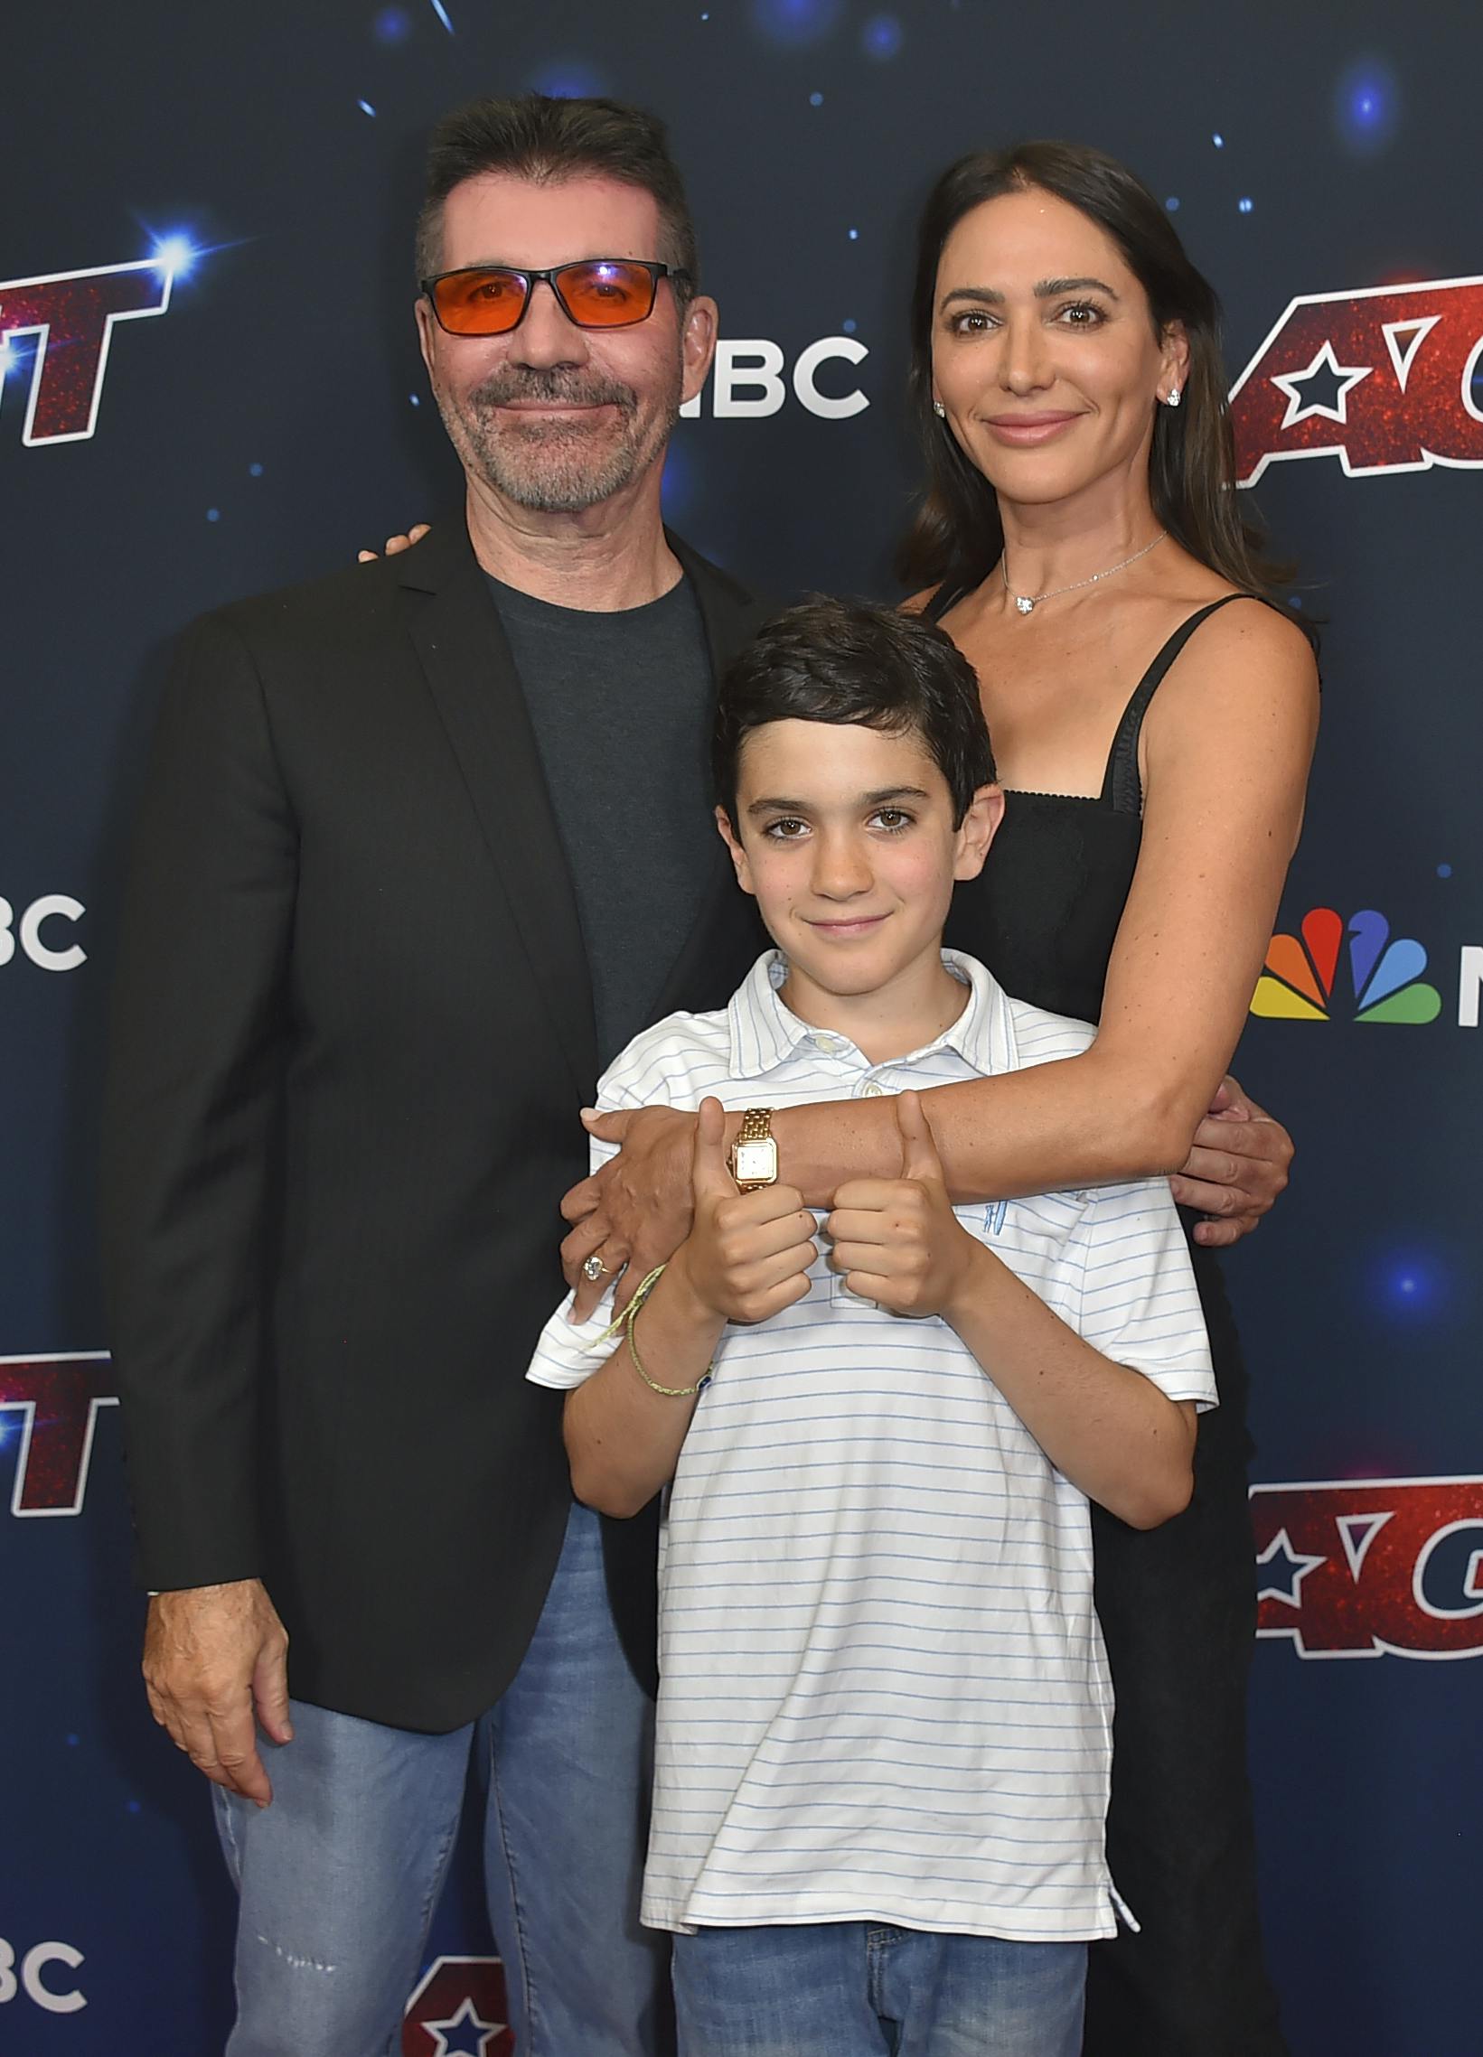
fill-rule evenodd
<path id="1" fill-rule="evenodd" d="M 1483 278 L 1314 292 L 1288 302 L 1230 389 L 1236 475 L 1337 457 L 1351 479 L 1483 465 Z"/>

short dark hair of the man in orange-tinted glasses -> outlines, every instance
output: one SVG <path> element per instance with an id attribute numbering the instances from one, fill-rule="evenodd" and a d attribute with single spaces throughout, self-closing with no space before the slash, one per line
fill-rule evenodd
<path id="1" fill-rule="evenodd" d="M 652 193 L 658 202 L 664 247 L 646 255 L 685 274 L 671 280 L 679 306 L 685 306 L 695 292 L 699 280 L 695 222 L 658 115 L 625 107 L 621 101 L 555 101 L 545 93 L 455 107 L 428 138 L 418 216 L 418 282 L 442 269 L 444 200 L 455 185 L 485 171 L 510 171 L 518 179 L 543 185 L 559 185 L 566 179 L 617 179 Z"/>

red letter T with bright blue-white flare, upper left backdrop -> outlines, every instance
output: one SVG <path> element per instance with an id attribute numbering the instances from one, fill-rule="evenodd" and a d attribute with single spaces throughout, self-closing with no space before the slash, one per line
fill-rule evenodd
<path id="1" fill-rule="evenodd" d="M 23 442 L 84 442 L 93 434 L 113 325 L 162 315 L 191 257 L 175 237 L 138 263 L 0 280 L 0 389 L 4 374 L 21 366 L 16 339 L 37 339 Z"/>

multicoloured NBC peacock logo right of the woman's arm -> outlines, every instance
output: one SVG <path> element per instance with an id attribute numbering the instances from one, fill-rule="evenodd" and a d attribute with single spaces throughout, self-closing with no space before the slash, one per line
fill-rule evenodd
<path id="1" fill-rule="evenodd" d="M 1421 944 L 1392 938 L 1374 907 L 1347 922 L 1333 907 L 1310 907 L 1296 936 L 1271 938 L 1251 1012 L 1290 1022 L 1327 1022 L 1335 1014 L 1358 1022 L 1434 1022 L 1442 994 L 1425 983 L 1423 971 Z"/>

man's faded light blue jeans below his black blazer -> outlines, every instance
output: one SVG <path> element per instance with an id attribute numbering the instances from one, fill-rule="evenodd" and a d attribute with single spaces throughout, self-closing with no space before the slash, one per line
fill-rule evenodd
<path id="1" fill-rule="evenodd" d="M 479 1722 L 422 1736 L 292 1713 L 294 1740 L 269 1746 L 269 1808 L 216 1788 L 241 1892 L 228 2057 L 401 2051 L 475 1757 L 520 2057 L 666 2049 L 666 1938 L 638 1921 L 652 1703 L 617 1641 L 594 1514 L 572 1510 L 535 1639 Z"/>

